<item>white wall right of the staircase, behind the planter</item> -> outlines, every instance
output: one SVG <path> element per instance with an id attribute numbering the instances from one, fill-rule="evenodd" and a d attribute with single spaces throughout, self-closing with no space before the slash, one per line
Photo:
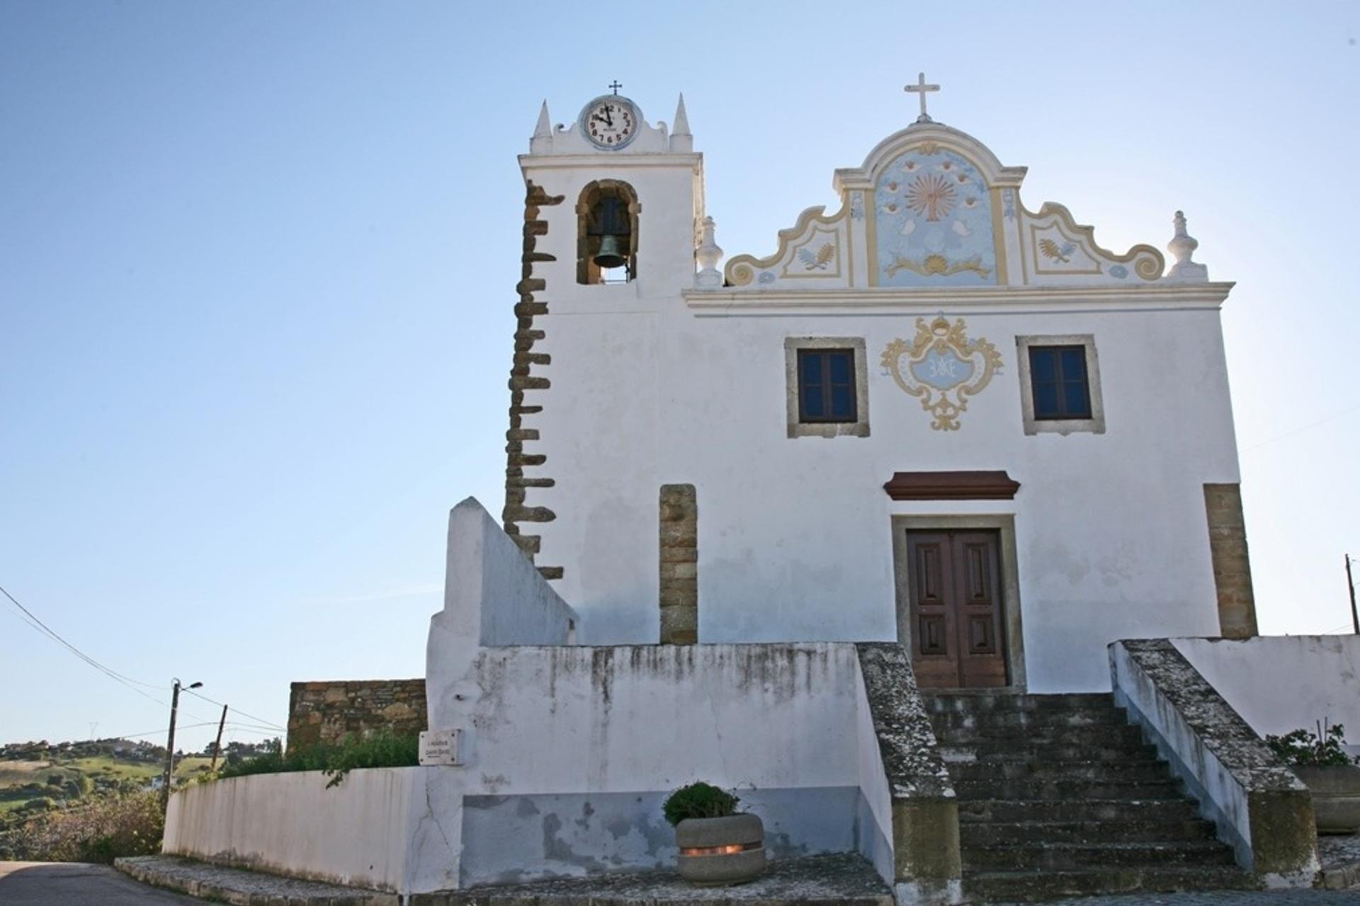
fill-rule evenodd
<path id="1" fill-rule="evenodd" d="M 1171 641 L 1261 736 L 1326 719 L 1360 746 L 1360 636 Z"/>

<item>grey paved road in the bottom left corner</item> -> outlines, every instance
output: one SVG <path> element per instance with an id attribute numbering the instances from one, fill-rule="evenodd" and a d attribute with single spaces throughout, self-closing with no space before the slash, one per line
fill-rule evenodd
<path id="1" fill-rule="evenodd" d="M 203 901 L 139 884 L 107 865 L 0 863 L 0 905 L 203 906 Z"/>

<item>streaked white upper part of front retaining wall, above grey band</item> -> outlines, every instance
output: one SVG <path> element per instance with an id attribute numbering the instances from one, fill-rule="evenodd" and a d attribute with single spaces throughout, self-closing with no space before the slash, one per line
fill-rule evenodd
<path id="1" fill-rule="evenodd" d="M 858 671 L 853 645 L 486 648 L 475 700 L 430 694 L 469 793 L 857 786 Z"/>

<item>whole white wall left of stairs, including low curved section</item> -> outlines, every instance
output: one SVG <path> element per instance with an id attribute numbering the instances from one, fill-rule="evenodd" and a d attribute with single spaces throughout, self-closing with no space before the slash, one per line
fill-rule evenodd
<path id="1" fill-rule="evenodd" d="M 431 725 L 462 729 L 462 765 L 193 785 L 163 852 L 396 892 L 656 868 L 675 861 L 664 796 L 704 780 L 778 856 L 858 848 L 891 877 L 853 645 L 483 648 L 447 679 Z"/>

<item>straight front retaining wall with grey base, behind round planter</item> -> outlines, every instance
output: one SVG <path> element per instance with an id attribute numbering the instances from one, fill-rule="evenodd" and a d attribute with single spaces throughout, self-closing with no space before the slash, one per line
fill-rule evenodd
<path id="1" fill-rule="evenodd" d="M 461 883 L 670 865 L 661 803 L 695 780 L 760 815 L 775 857 L 853 852 L 877 751 L 860 685 L 847 644 L 483 648 L 430 689 L 431 725 L 462 729 L 438 769 L 464 796 Z"/>

